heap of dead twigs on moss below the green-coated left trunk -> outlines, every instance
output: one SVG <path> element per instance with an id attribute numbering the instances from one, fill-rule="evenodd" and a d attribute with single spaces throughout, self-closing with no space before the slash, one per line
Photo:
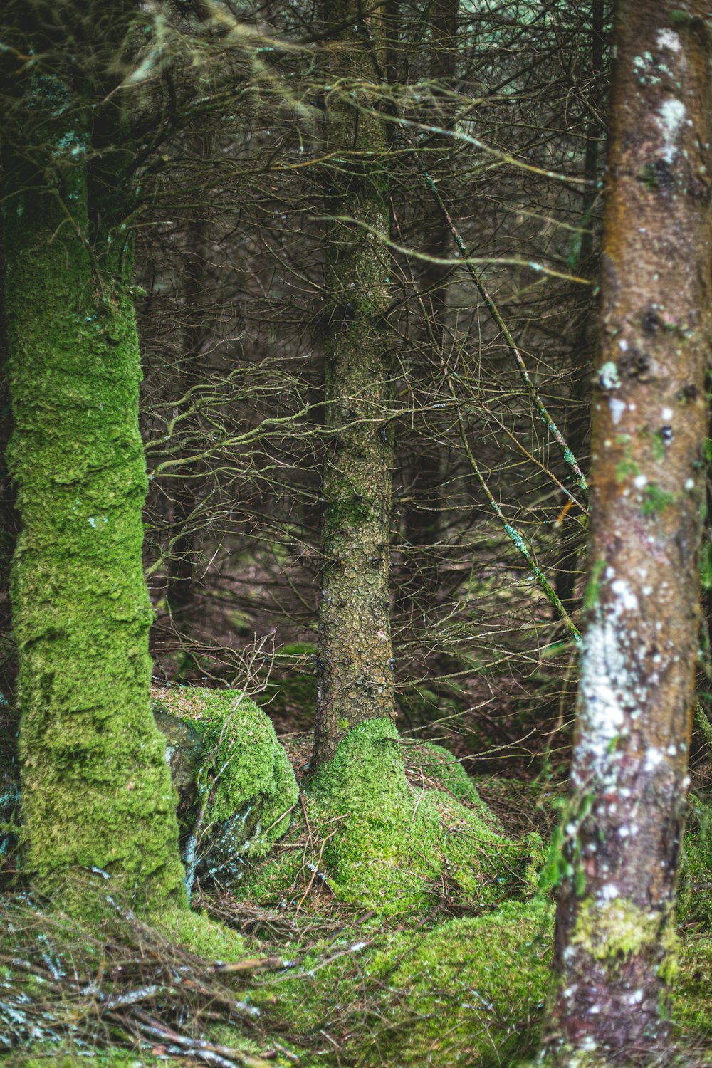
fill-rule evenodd
<path id="1" fill-rule="evenodd" d="M 237 931 L 175 906 L 137 916 L 114 901 L 88 924 L 27 895 L 0 898 L 0 1061 L 128 1068 L 183 1051 L 193 1063 L 208 1041 L 233 1051 L 228 1063 L 266 1068 L 269 1011 L 248 988 L 253 971 L 282 962 L 253 954 Z"/>

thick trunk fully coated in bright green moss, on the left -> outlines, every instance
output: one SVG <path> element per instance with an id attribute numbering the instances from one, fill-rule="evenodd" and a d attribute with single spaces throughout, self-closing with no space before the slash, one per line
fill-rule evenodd
<path id="1" fill-rule="evenodd" d="M 148 696 L 130 239 L 118 225 L 92 240 L 81 104 L 51 77 L 30 95 L 46 122 L 36 151 L 6 158 L 4 203 L 22 865 L 73 908 L 92 868 L 158 902 L 180 897 L 183 873 Z"/>

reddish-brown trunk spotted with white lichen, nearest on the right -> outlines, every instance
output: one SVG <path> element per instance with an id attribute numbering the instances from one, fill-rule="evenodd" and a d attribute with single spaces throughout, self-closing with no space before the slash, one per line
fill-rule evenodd
<path id="1" fill-rule="evenodd" d="M 621 0 L 594 387 L 587 626 L 549 1052 L 668 1031 L 705 485 L 710 85 L 700 0 Z"/>

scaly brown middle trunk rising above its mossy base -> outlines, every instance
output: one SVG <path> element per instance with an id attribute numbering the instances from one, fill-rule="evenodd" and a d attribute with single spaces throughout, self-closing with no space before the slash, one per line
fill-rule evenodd
<path id="1" fill-rule="evenodd" d="M 322 4 L 333 28 L 327 93 L 329 153 L 323 469 L 317 724 L 313 768 L 355 724 L 393 717 L 389 606 L 393 434 L 390 409 L 386 139 L 375 83 L 381 12 Z M 352 95 L 351 95 L 352 94 Z M 350 103 L 354 100 L 355 103 Z M 343 221 L 344 219 L 348 221 Z M 353 220 L 353 221 L 350 221 Z"/>

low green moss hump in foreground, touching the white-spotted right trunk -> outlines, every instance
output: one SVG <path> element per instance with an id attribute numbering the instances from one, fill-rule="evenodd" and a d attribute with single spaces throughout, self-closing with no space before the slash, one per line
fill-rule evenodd
<path id="1" fill-rule="evenodd" d="M 346 1059 L 360 1068 L 510 1065 L 536 1046 L 552 920 L 548 907 L 510 902 L 430 931 L 381 934 L 371 944 L 350 931 L 325 947 L 332 963 L 322 968 L 321 955 L 311 954 L 302 977 L 274 989 L 303 1045 L 322 1047 L 315 1064 L 334 1063 L 325 1032 L 347 1030 Z"/>

